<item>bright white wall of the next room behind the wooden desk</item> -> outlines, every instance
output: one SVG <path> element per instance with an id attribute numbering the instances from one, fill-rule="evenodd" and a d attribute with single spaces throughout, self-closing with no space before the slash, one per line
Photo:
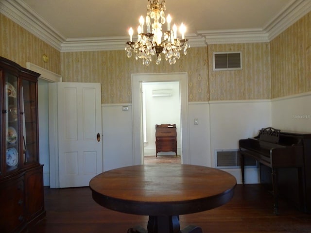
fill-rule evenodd
<path id="1" fill-rule="evenodd" d="M 169 90 L 170 96 L 153 96 L 153 90 Z M 155 124 L 176 124 L 177 154 L 181 154 L 179 82 L 142 83 L 145 100 L 146 139 L 144 155 L 155 155 Z M 158 155 L 175 155 L 159 152 Z"/>

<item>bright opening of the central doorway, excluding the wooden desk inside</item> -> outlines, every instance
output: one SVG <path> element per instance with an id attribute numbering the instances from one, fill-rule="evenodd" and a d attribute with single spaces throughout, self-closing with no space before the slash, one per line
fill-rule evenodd
<path id="1" fill-rule="evenodd" d="M 174 82 L 142 83 L 144 164 L 181 163 L 180 85 Z M 176 125 L 177 154 L 155 149 L 155 125 Z"/>

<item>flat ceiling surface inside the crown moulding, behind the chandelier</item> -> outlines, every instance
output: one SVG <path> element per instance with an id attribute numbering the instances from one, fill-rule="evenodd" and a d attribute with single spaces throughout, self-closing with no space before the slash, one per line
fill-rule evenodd
<path id="1" fill-rule="evenodd" d="M 24 0 L 66 38 L 126 36 L 147 0 Z M 291 0 L 166 0 L 166 15 L 189 32 L 265 28 Z"/>

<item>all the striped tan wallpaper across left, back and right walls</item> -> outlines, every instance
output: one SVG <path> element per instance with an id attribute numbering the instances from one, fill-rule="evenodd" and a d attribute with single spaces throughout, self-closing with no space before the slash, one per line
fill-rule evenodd
<path id="1" fill-rule="evenodd" d="M 190 48 L 170 66 L 145 67 L 121 51 L 59 52 L 0 14 L 0 56 L 63 76 L 64 82 L 99 82 L 102 103 L 131 102 L 132 73 L 188 73 L 188 100 L 271 99 L 311 91 L 311 13 L 270 43 Z M 243 69 L 213 71 L 214 51 L 242 51 Z M 50 60 L 44 63 L 42 55 Z"/>

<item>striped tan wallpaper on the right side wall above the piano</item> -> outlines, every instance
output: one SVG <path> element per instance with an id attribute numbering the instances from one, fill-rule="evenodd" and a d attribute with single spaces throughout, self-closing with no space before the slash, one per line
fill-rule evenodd
<path id="1" fill-rule="evenodd" d="M 311 12 L 270 44 L 272 98 L 311 91 Z"/>

